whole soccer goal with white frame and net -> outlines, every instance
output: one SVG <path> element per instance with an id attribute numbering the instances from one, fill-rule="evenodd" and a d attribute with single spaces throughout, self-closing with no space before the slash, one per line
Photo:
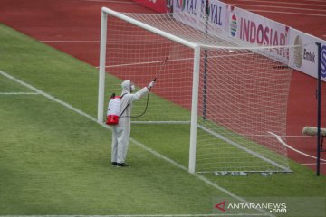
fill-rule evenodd
<path id="1" fill-rule="evenodd" d="M 146 114 L 132 123 L 189 126 L 190 172 L 291 171 L 271 133 L 286 135 L 292 70 L 270 54 L 291 48 L 244 46 L 175 16 L 102 9 L 99 122 L 122 80 L 140 89 L 156 78 Z M 146 101 L 134 103 L 131 116 Z"/>

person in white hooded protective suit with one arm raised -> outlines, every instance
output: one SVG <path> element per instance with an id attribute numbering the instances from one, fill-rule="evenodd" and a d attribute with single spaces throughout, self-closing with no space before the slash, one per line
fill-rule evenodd
<path id="1" fill-rule="evenodd" d="M 145 95 L 155 84 L 151 81 L 149 85 L 136 93 L 134 84 L 130 80 L 121 83 L 122 93 L 120 102 L 119 123 L 112 127 L 112 153 L 111 164 L 116 166 L 128 166 L 125 164 L 130 136 L 130 114 L 132 103 Z M 126 109 L 127 108 L 127 109 Z"/>

